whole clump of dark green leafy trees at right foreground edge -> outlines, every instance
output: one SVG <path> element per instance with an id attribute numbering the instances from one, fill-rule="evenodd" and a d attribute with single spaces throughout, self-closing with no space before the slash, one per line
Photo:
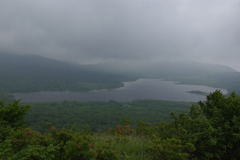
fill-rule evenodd
<path id="1" fill-rule="evenodd" d="M 190 112 L 172 114 L 176 134 L 183 142 L 194 144 L 193 155 L 199 159 L 239 159 L 240 97 L 219 90 L 205 102 L 192 105 Z"/>

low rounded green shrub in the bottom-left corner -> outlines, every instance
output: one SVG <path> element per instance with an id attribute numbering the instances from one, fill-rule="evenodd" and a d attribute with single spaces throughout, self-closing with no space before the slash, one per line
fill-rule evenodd
<path id="1" fill-rule="evenodd" d="M 0 157 L 13 160 L 53 159 L 59 147 L 51 144 L 53 139 L 29 128 L 12 132 L 0 145 Z M 5 147 L 4 147 L 5 146 Z"/>

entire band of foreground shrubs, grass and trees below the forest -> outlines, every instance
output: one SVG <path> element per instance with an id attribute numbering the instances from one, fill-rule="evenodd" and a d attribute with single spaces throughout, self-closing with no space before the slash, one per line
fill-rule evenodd
<path id="1" fill-rule="evenodd" d="M 14 101 L 0 104 L 0 159 L 239 159 L 240 97 L 215 91 L 188 113 L 171 114 L 171 122 L 151 125 L 121 119 L 102 133 L 58 130 L 40 133 L 25 126 L 30 106 Z"/>

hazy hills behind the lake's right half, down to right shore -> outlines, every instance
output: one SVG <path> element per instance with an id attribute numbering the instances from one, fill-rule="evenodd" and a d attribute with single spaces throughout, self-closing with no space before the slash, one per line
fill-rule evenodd
<path id="1" fill-rule="evenodd" d="M 240 94 L 240 72 L 219 64 L 189 61 L 134 64 L 115 62 L 89 65 L 99 71 L 134 73 L 146 78 L 161 78 L 185 84 L 206 85 Z"/>

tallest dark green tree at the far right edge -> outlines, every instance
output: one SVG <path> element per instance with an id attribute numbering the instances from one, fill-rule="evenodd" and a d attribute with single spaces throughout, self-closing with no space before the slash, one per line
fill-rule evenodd
<path id="1" fill-rule="evenodd" d="M 204 116 L 215 129 L 213 137 L 222 159 L 240 157 L 240 97 L 234 92 L 224 96 L 219 90 L 207 96 L 207 101 L 199 102 Z"/>

